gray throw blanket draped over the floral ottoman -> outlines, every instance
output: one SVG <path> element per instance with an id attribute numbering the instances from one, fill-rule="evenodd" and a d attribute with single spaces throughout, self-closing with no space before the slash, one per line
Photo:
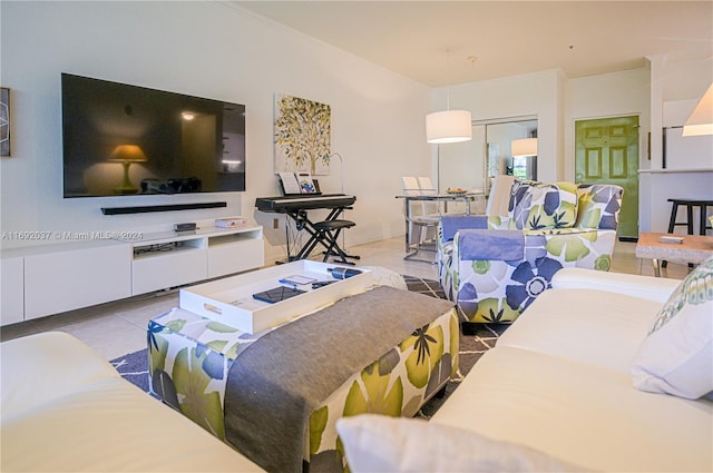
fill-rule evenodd
<path id="1" fill-rule="evenodd" d="M 312 412 L 449 309 L 447 300 L 379 286 L 262 336 L 228 372 L 226 441 L 270 472 L 301 472 Z"/>

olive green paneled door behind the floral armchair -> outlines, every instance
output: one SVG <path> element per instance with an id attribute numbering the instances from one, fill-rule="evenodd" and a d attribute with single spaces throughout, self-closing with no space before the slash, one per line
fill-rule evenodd
<path id="1" fill-rule="evenodd" d="M 624 188 L 618 236 L 638 238 L 638 117 L 575 121 L 575 181 Z"/>

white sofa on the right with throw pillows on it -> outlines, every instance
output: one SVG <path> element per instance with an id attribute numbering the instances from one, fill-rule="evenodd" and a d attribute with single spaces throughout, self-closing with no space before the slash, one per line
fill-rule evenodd
<path id="1" fill-rule="evenodd" d="M 342 420 L 352 472 L 713 471 L 711 393 L 695 398 L 713 391 L 713 259 L 706 264 L 697 282 L 686 278 L 703 290 L 700 325 L 685 333 L 676 324 L 693 316 L 681 309 L 666 323 L 677 333 L 658 346 L 647 344 L 664 329 L 648 333 L 666 300 L 695 292 L 680 293 L 673 279 L 561 269 L 430 422 Z M 642 391 L 677 388 L 672 369 L 665 383 L 642 375 L 649 348 L 667 363 L 693 345 L 683 363 L 700 357 L 688 378 L 697 393 Z"/>

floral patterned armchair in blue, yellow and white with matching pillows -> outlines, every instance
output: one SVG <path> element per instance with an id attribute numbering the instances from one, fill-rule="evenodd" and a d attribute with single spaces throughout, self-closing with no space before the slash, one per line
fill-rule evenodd
<path id="1" fill-rule="evenodd" d="M 622 195 L 614 185 L 516 179 L 508 216 L 443 216 L 439 279 L 461 321 L 514 322 L 563 267 L 608 270 Z"/>

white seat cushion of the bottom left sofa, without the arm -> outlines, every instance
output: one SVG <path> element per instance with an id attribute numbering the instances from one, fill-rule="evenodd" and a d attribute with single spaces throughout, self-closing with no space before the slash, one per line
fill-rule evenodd
<path id="1" fill-rule="evenodd" d="M 120 377 L 12 421 L 3 416 L 0 466 L 3 472 L 263 471 Z"/>

